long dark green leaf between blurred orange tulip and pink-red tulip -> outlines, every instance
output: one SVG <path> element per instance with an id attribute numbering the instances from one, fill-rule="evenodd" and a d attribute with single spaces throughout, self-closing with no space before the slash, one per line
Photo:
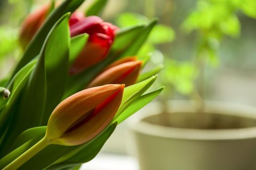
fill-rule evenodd
<path id="1" fill-rule="evenodd" d="M 67 12 L 74 12 L 82 4 L 83 1 L 84 0 L 65 0 L 62 4 L 59 5 L 59 7 L 53 10 L 53 12 L 47 17 L 44 24 L 40 27 L 37 34 L 35 34 L 34 38 L 29 43 L 11 77 L 13 77 L 20 70 L 20 68 L 22 68 L 39 54 L 47 34 L 53 25 L 59 20 L 59 18 Z"/>

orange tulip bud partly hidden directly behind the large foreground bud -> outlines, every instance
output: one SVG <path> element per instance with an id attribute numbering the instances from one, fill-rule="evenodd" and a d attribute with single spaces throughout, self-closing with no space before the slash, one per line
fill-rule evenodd
<path id="1" fill-rule="evenodd" d="M 141 64 L 141 61 L 131 61 L 109 68 L 100 73 L 88 87 L 107 84 L 133 85 L 137 81 Z"/>

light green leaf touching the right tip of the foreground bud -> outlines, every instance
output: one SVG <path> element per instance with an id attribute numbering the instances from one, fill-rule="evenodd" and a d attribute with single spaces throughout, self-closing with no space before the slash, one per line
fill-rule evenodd
<path id="1" fill-rule="evenodd" d="M 135 85 L 130 85 L 128 87 L 124 88 L 123 92 L 123 98 L 121 105 L 115 115 L 115 118 L 113 119 L 113 122 L 115 122 L 116 118 L 135 100 L 137 100 L 157 79 L 156 76 L 152 76 L 151 78 L 137 83 Z"/>

